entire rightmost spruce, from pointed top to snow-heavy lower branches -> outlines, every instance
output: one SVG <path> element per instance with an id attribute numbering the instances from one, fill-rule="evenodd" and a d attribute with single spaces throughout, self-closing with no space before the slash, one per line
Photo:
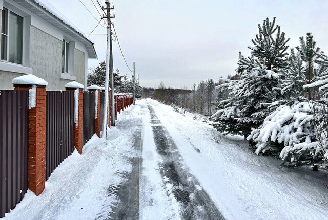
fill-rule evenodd
<path id="1" fill-rule="evenodd" d="M 302 165 L 320 157 L 315 126 L 324 118 L 322 101 L 317 100 L 322 96 L 316 96 L 312 88 L 328 83 L 328 80 L 320 81 L 328 78 L 325 77 L 328 75 L 325 71 L 328 58 L 316 47 L 311 33 L 306 34 L 306 41 L 300 37 L 300 46 L 296 50 L 297 53 L 291 50 L 289 69 L 282 71 L 284 105 L 265 118 L 263 126 L 254 130 L 249 138 L 256 142 L 257 153 L 275 150 L 281 144 L 280 158 Z M 271 144 L 273 142 L 276 144 Z"/>

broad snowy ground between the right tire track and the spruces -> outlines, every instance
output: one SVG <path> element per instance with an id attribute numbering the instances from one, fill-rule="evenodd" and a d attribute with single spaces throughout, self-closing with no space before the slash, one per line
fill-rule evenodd
<path id="1" fill-rule="evenodd" d="M 243 137 L 221 137 L 206 123 L 150 104 L 175 140 L 183 160 L 226 219 L 325 219 L 327 172 L 281 168 L 281 160 L 255 155 Z M 200 138 L 201 137 L 201 138 Z M 194 150 L 196 146 L 200 153 Z"/>

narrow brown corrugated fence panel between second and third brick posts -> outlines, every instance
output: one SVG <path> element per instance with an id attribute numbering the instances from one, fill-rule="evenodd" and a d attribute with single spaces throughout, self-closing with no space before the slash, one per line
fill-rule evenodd
<path id="1" fill-rule="evenodd" d="M 83 145 L 94 134 L 95 103 L 94 92 L 83 92 Z"/>

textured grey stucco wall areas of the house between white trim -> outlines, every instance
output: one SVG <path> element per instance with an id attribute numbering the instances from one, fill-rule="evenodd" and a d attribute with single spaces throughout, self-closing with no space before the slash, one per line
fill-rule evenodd
<path id="1" fill-rule="evenodd" d="M 0 30 L 1 30 L 0 10 Z M 74 43 L 71 44 L 74 47 Z M 29 61 L 33 75 L 48 81 L 47 90 L 65 90 L 65 84 L 72 80 L 61 79 L 61 47 L 58 38 L 30 26 Z M 1 49 L 1 48 L 0 48 Z M 85 84 L 86 53 L 74 48 L 74 76 L 77 82 Z M 0 89 L 12 90 L 12 79 L 25 74 L 0 70 Z"/>

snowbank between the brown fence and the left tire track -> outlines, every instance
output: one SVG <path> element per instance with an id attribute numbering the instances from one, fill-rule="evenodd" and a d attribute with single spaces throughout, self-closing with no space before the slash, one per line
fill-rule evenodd
<path id="1" fill-rule="evenodd" d="M 28 190 L 3 219 L 107 219 L 117 202 L 109 188 L 125 181 L 133 154 L 129 136 L 112 128 L 108 137 L 94 135 L 82 155 L 75 150 L 55 169 L 41 195 Z"/>

